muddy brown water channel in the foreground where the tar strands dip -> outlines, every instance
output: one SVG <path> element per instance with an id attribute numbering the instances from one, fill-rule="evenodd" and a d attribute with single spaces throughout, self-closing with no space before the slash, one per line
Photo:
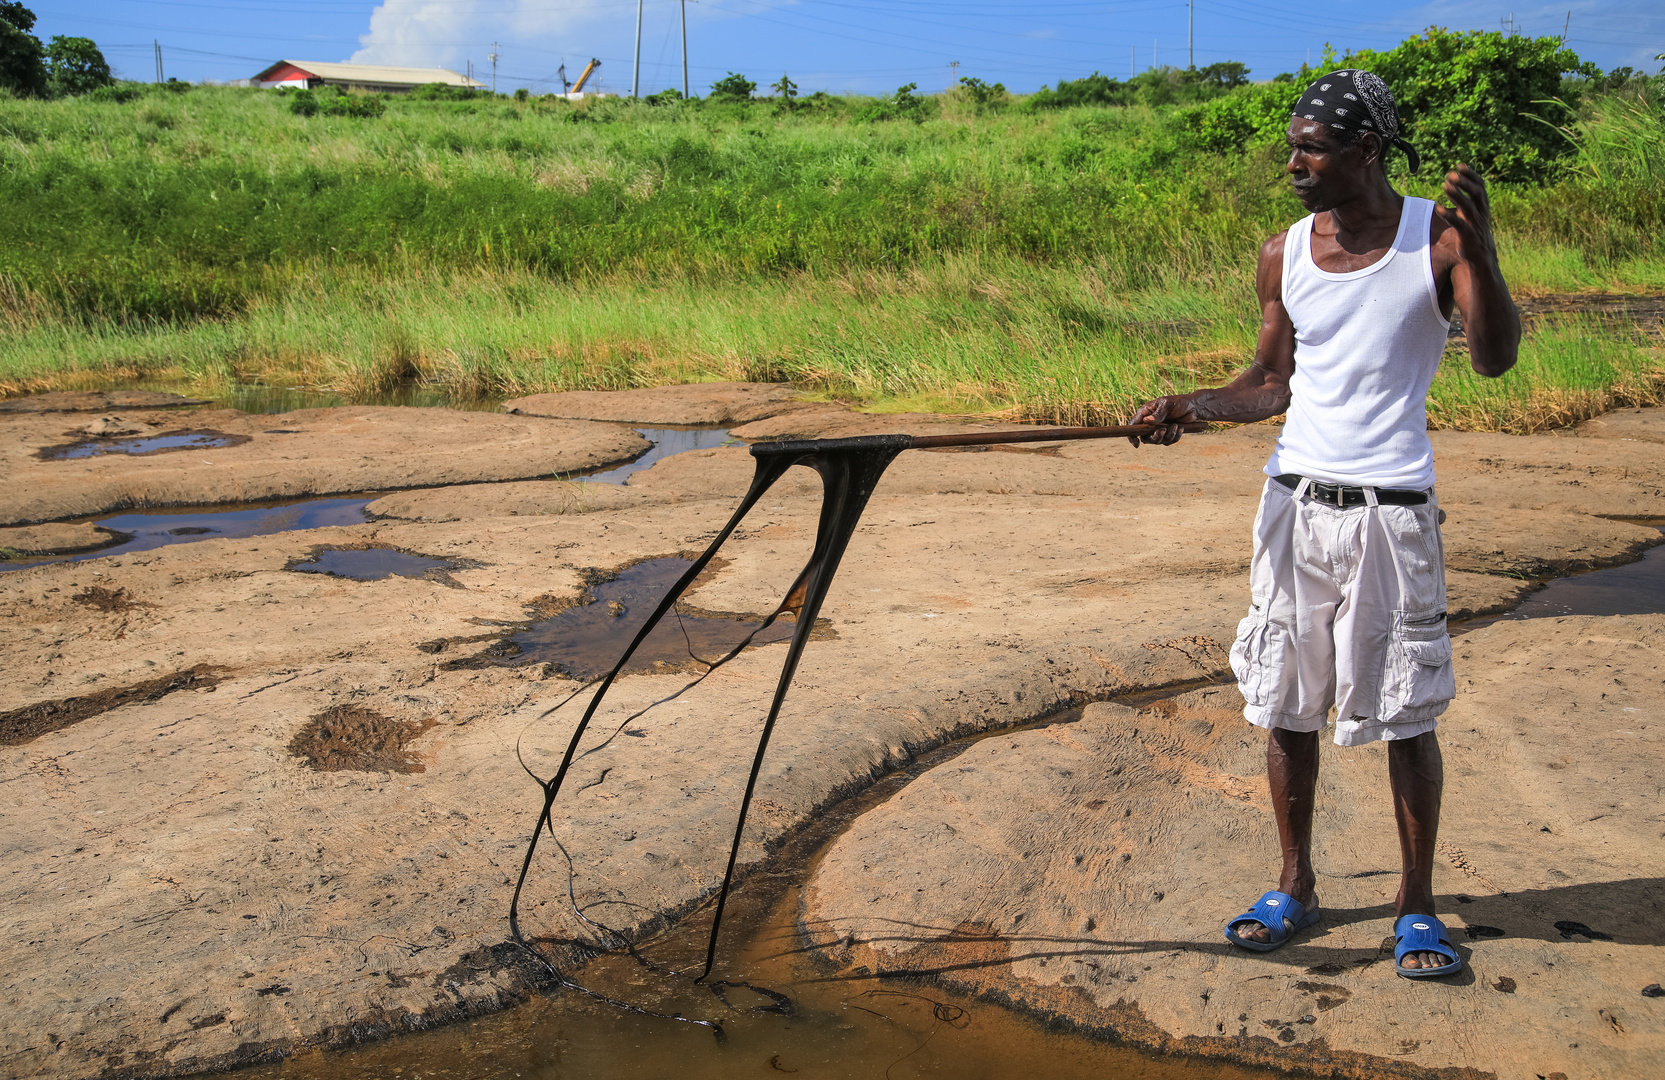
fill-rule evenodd
<path id="1" fill-rule="evenodd" d="M 1042 724 L 1067 722 L 1069 714 Z M 989 734 L 1011 734 L 1012 729 Z M 1047 1027 L 1021 1013 L 919 980 L 837 972 L 804 950 L 803 885 L 821 854 L 861 814 L 979 739 L 921 756 L 862 794 L 831 807 L 753 874 L 729 900 L 714 988 L 608 954 L 568 975 L 616 1000 L 716 1020 L 711 1030 L 644 1017 L 576 992 L 536 995 L 496 1015 L 343 1050 L 310 1050 L 251 1080 L 390 1077 L 426 1080 L 1270 1080 L 1267 1070 L 1142 1050 Z M 589 909 L 593 919 L 601 909 Z M 709 915 L 691 917 L 639 952 L 661 969 L 699 970 Z M 784 1003 L 783 1003 L 784 997 Z"/>

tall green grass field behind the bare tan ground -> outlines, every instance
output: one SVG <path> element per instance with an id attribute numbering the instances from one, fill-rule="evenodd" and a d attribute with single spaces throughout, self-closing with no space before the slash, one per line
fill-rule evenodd
<path id="1" fill-rule="evenodd" d="M 1275 151 L 1185 150 L 1161 108 L 859 105 L 0 102 L 0 394 L 784 378 L 1092 421 L 1247 359 L 1255 248 L 1300 213 Z M 1592 110 L 1583 171 L 1497 191 L 1517 291 L 1665 286 L 1650 110 Z M 1502 383 L 1442 374 L 1432 414 L 1530 429 L 1660 369 L 1657 341 L 1558 326 Z"/>

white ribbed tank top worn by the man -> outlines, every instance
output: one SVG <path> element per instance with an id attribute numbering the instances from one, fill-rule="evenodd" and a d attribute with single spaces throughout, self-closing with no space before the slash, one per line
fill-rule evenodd
<path id="1" fill-rule="evenodd" d="M 1434 285 L 1432 216 L 1432 201 L 1405 198 L 1394 246 L 1352 273 L 1312 261 L 1312 216 L 1289 228 L 1284 308 L 1295 324 L 1295 376 L 1267 476 L 1434 486 L 1427 396 L 1450 321 Z"/>

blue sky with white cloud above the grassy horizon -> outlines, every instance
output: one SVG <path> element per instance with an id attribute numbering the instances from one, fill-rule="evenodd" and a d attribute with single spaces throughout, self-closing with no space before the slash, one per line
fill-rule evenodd
<path id="1" fill-rule="evenodd" d="M 25 0 L 28 2 L 28 0 Z M 1324 15 L 1290 0 L 1197 0 L 1195 63 L 1240 60 L 1254 78 L 1337 52 L 1385 47 L 1429 25 L 1560 35 L 1602 68 L 1657 72 L 1665 53 L 1660 0 L 1459 0 L 1402 5 L 1334 0 Z M 33 5 L 42 38 L 90 37 L 120 75 L 155 75 L 158 40 L 168 77 L 246 78 L 273 60 L 360 60 L 465 70 L 498 88 L 559 90 L 601 58 L 603 88 L 629 92 L 636 0 L 53 0 Z M 694 93 L 726 72 L 768 85 L 789 73 L 811 90 L 887 93 L 901 83 L 941 90 L 952 75 L 1027 93 L 1094 70 L 1126 77 L 1152 62 L 1187 62 L 1184 0 L 689 0 Z M 641 92 L 681 85 L 678 0 L 644 0 Z M 951 63 L 957 62 L 957 68 Z"/>

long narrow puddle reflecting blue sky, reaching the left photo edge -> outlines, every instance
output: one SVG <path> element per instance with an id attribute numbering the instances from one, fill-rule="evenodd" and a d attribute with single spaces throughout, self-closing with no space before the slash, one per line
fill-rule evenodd
<path id="1" fill-rule="evenodd" d="M 328 526 L 365 524 L 365 506 L 368 496 L 345 499 L 306 499 L 303 503 L 281 504 L 243 504 L 231 509 L 157 509 L 143 514 L 115 514 L 110 518 L 92 518 L 93 524 L 122 533 L 130 539 L 112 547 L 87 551 L 73 556 L 42 556 L 38 559 L 0 561 L 0 572 L 40 566 L 42 562 L 80 562 L 83 559 L 102 559 L 107 556 L 133 554 L 152 551 L 168 544 L 186 544 L 191 541 L 216 536 L 241 539 L 248 536 L 268 536 L 271 533 L 288 533 L 293 529 L 323 529 Z"/>

